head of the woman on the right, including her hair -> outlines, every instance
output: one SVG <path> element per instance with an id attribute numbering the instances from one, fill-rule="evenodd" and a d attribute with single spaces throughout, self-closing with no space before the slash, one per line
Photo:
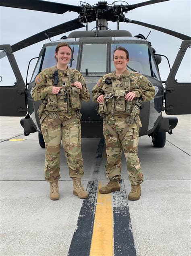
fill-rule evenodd
<path id="1" fill-rule="evenodd" d="M 129 52 L 125 48 L 119 46 L 113 52 L 113 61 L 115 69 L 125 71 L 127 63 L 129 62 Z"/>

